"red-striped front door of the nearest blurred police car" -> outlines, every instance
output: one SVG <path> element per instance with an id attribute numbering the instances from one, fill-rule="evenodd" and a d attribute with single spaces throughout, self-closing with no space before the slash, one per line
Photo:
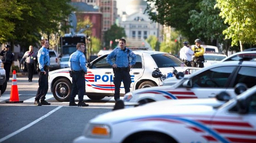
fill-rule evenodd
<path id="1" fill-rule="evenodd" d="M 240 112 L 237 102 L 217 110 L 212 118 L 209 134 L 210 143 L 256 143 L 256 92 L 239 99 L 244 111 Z M 240 113 L 239 113 L 240 112 Z"/>

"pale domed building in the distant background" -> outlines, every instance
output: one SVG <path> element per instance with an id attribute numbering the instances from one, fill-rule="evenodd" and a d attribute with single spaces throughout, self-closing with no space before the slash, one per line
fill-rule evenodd
<path id="1" fill-rule="evenodd" d="M 127 46 L 140 46 L 140 43 L 143 46 L 149 35 L 154 35 L 159 40 L 162 39 L 160 36 L 162 26 L 159 23 L 152 22 L 148 14 L 143 14 L 147 5 L 148 3 L 144 0 L 132 0 L 126 6 L 126 11 L 121 15 L 120 26 L 125 29 Z M 131 42 L 129 43 L 129 41 Z M 134 45 L 134 43 L 138 44 Z"/>

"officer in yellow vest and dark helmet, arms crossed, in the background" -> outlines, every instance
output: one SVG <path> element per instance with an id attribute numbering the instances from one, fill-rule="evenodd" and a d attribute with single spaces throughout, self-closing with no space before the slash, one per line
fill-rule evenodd
<path id="1" fill-rule="evenodd" d="M 204 47 L 201 47 L 201 40 L 195 40 L 195 46 L 192 47 L 192 50 L 195 52 L 195 57 L 192 59 L 192 67 L 196 67 L 196 63 L 199 64 L 199 68 L 204 67 Z"/>

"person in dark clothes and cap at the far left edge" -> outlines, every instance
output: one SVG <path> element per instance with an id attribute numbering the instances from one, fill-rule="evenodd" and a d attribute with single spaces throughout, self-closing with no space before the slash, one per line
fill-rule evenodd
<path id="1" fill-rule="evenodd" d="M 5 45 L 5 49 L 0 52 L 0 55 L 3 56 L 2 62 L 3 67 L 6 71 L 6 81 L 9 81 L 10 71 L 12 67 L 12 63 L 14 61 L 14 53 L 10 50 L 11 46 Z"/>

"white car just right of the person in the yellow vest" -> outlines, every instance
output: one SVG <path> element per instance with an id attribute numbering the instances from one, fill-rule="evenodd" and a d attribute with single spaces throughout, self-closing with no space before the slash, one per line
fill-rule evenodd
<path id="1" fill-rule="evenodd" d="M 204 67 L 211 66 L 212 64 L 219 63 L 226 58 L 226 54 L 221 53 L 204 53 Z"/>

